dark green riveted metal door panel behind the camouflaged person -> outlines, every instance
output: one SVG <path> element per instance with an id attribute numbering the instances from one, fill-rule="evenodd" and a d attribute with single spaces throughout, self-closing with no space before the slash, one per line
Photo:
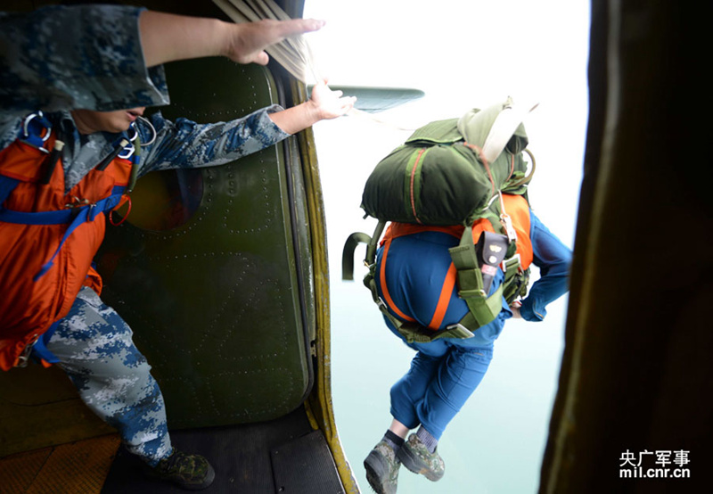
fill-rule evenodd
<path id="1" fill-rule="evenodd" d="M 276 102 L 261 67 L 213 59 L 167 72 L 172 104 L 162 112 L 169 119 L 234 119 Z M 309 242 L 304 206 L 289 193 L 299 175 L 286 170 L 289 147 L 188 174 L 150 174 L 137 184 L 127 222 L 109 229 L 98 258 L 102 297 L 152 364 L 169 427 L 269 420 L 297 408 L 309 391 L 313 330 L 303 324 L 310 317 L 300 299 L 307 293 L 313 303 L 312 276 L 298 272 L 308 270 Z M 178 176 L 201 202 L 170 228 L 176 196 L 167 191 L 179 188 Z M 168 229 L 147 229 L 157 225 Z"/>

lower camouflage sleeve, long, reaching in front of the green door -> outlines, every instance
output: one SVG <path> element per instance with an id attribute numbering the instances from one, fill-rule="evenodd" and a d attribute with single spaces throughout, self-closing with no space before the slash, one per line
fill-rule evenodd
<path id="1" fill-rule="evenodd" d="M 242 119 L 213 124 L 198 124 L 189 119 L 164 119 L 160 112 L 150 119 L 156 141 L 142 150 L 143 176 L 154 170 L 185 169 L 221 165 L 258 152 L 290 136 L 273 123 L 269 113 L 282 107 L 272 105 Z M 140 126 L 141 138 L 148 143 L 150 129 Z"/>

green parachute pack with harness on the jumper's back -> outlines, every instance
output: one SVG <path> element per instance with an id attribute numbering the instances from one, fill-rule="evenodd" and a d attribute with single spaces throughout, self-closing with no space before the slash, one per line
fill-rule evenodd
<path id="1" fill-rule="evenodd" d="M 527 198 L 535 160 L 527 150 L 522 119 L 531 110 L 516 108 L 508 98 L 483 110 L 468 111 L 459 119 L 430 122 L 381 160 L 366 180 L 361 207 L 365 218 L 371 216 L 378 223 L 371 236 L 349 235 L 342 253 L 342 279 L 354 279 L 354 251 L 359 243 L 366 243 L 364 262 L 369 271 L 364 284 L 381 312 L 408 342 L 469 338 L 497 317 L 503 297 L 509 303 L 527 292 L 529 269 L 520 268 L 515 255 L 517 235 L 499 198 L 501 193 Z M 487 218 L 501 233 L 486 232 L 474 244 L 472 226 L 481 218 Z M 436 332 L 389 313 L 374 281 L 377 247 L 389 221 L 464 226 L 459 245 L 449 249 L 457 271 L 458 295 L 469 308 L 457 324 Z M 501 253 L 484 259 L 480 252 L 486 245 L 489 251 L 492 246 Z M 483 275 L 484 264 L 502 266 L 505 271 L 504 283 L 490 296 L 492 279 Z"/>

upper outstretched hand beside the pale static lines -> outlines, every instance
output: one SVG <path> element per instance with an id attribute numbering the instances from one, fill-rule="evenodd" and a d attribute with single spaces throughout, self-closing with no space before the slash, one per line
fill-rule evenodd
<path id="1" fill-rule="evenodd" d="M 273 21 L 265 19 L 257 22 L 233 24 L 231 36 L 225 45 L 225 56 L 239 63 L 266 65 L 269 61 L 265 49 L 275 45 L 285 37 L 297 36 L 316 31 L 324 26 L 324 21 L 315 19 L 292 19 Z"/>

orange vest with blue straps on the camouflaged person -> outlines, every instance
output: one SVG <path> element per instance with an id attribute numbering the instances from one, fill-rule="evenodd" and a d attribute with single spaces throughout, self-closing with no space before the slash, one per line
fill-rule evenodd
<path id="1" fill-rule="evenodd" d="M 46 149 L 53 149 L 54 141 L 55 137 L 49 136 Z M 0 178 L 5 184 L 17 181 L 0 204 L 3 370 L 17 365 L 23 350 L 68 314 L 83 285 L 101 292 L 102 279 L 92 268 L 92 259 L 104 237 L 102 212 L 117 207 L 131 174 L 131 161 L 115 158 L 105 169 L 91 170 L 65 193 L 61 163 L 53 167 L 49 183 L 40 183 L 47 170 L 47 156 L 20 139 L 0 152 Z M 53 213 L 46 214 L 49 211 Z M 44 218 L 69 219 L 42 224 L 46 222 L 42 213 Z M 23 218 L 27 222 L 23 223 Z M 72 230 L 73 220 L 81 223 Z M 37 221 L 40 224 L 32 224 Z M 68 232 L 70 235 L 65 235 Z"/>

